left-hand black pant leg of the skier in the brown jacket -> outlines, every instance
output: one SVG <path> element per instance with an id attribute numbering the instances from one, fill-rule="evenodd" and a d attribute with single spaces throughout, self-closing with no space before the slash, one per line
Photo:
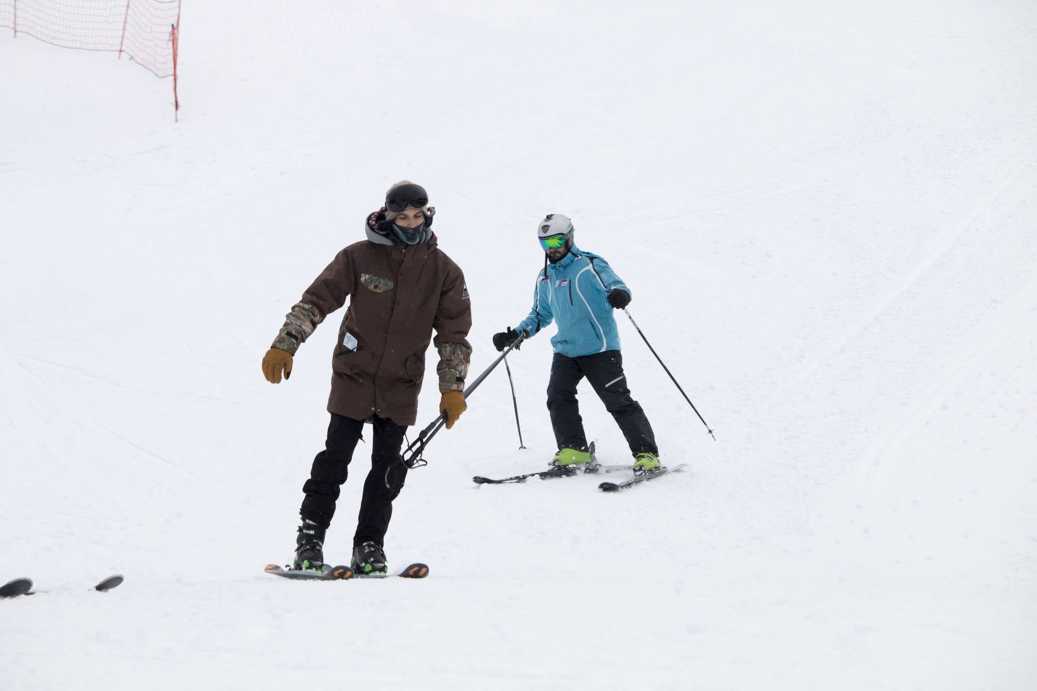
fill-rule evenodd
<path id="1" fill-rule="evenodd" d="M 335 501 L 347 477 L 347 467 L 353 459 L 364 431 L 364 423 L 352 418 L 331 413 L 328 424 L 328 439 L 325 450 L 313 459 L 310 479 L 303 485 L 303 506 L 299 515 L 327 528 L 335 515 Z"/>

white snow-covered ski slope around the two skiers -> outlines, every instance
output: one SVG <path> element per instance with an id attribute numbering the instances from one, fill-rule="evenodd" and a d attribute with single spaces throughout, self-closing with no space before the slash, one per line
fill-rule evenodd
<path id="1" fill-rule="evenodd" d="M 1032 3 L 249 4 L 185 3 L 175 125 L 168 80 L 0 33 L 0 581 L 49 591 L 0 603 L 0 689 L 1034 688 Z M 428 579 L 267 576 L 337 316 L 259 361 L 401 177 L 474 371 L 564 212 L 718 440 L 622 320 L 690 471 L 476 487 L 554 451 L 537 338 L 529 450 L 495 373 L 397 502 Z"/>

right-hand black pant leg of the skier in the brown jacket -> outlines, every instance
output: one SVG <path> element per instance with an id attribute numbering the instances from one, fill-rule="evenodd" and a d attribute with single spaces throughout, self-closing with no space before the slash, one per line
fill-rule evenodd
<path id="1" fill-rule="evenodd" d="M 374 416 L 374 449 L 371 453 L 371 469 L 364 481 L 364 496 L 360 501 L 360 516 L 353 545 L 375 542 L 385 545 L 386 530 L 392 519 L 392 501 L 403 489 L 407 466 L 399 461 L 399 450 L 403 445 L 403 432 L 391 420 Z M 388 487 L 387 487 L 388 485 Z"/>

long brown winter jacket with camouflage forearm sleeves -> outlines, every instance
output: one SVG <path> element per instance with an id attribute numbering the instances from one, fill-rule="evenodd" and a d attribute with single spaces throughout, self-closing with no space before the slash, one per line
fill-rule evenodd
<path id="1" fill-rule="evenodd" d="M 472 354 L 466 340 L 472 326 L 468 288 L 430 231 L 427 241 L 410 247 L 371 232 L 368 237 L 339 252 L 306 289 L 274 347 L 293 355 L 349 297 L 332 358 L 329 412 L 414 425 L 433 328 L 440 390 L 465 390 Z"/>

